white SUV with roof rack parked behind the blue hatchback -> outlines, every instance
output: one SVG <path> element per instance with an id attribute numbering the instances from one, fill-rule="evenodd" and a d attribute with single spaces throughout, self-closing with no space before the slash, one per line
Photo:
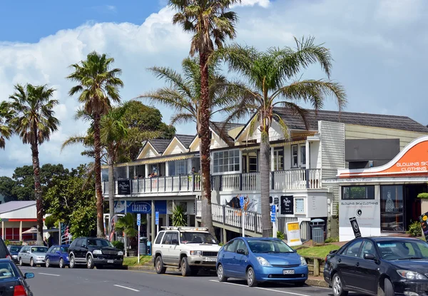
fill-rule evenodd
<path id="1" fill-rule="evenodd" d="M 171 267 L 183 277 L 197 275 L 200 269 L 215 270 L 219 250 L 208 228 L 165 227 L 153 245 L 153 264 L 158 273 Z"/>

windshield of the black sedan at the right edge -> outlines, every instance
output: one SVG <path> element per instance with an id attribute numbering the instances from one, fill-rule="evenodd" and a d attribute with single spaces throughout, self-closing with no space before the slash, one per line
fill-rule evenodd
<path id="1" fill-rule="evenodd" d="M 377 247 L 384 260 L 428 259 L 428 244 L 422 240 L 386 240 Z"/>

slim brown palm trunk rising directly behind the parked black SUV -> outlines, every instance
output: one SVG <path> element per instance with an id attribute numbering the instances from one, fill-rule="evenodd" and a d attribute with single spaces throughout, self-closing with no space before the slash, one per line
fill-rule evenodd
<path id="1" fill-rule="evenodd" d="M 95 146 L 96 236 L 98 238 L 104 238 L 103 191 L 101 190 L 100 116 L 98 114 L 93 118 L 93 144 Z"/>

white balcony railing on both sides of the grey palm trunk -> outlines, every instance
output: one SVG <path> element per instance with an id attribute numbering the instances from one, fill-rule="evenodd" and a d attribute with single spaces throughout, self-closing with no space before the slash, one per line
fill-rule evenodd
<path id="1" fill-rule="evenodd" d="M 321 170 L 280 170 L 270 172 L 272 190 L 321 189 Z M 213 190 L 260 191 L 260 173 L 213 175 Z"/>

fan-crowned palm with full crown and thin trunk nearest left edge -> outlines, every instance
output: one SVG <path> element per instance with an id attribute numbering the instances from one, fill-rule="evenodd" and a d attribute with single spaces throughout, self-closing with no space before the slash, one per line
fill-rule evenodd
<path id="1" fill-rule="evenodd" d="M 51 97 L 54 88 L 26 84 L 15 86 L 11 98 L 14 118 L 11 126 L 24 144 L 30 144 L 34 170 L 34 196 L 37 208 L 37 243 L 43 244 L 43 200 L 40 184 L 39 145 L 49 141 L 51 133 L 58 130 L 59 121 L 54 117 L 54 107 L 58 100 Z"/>

